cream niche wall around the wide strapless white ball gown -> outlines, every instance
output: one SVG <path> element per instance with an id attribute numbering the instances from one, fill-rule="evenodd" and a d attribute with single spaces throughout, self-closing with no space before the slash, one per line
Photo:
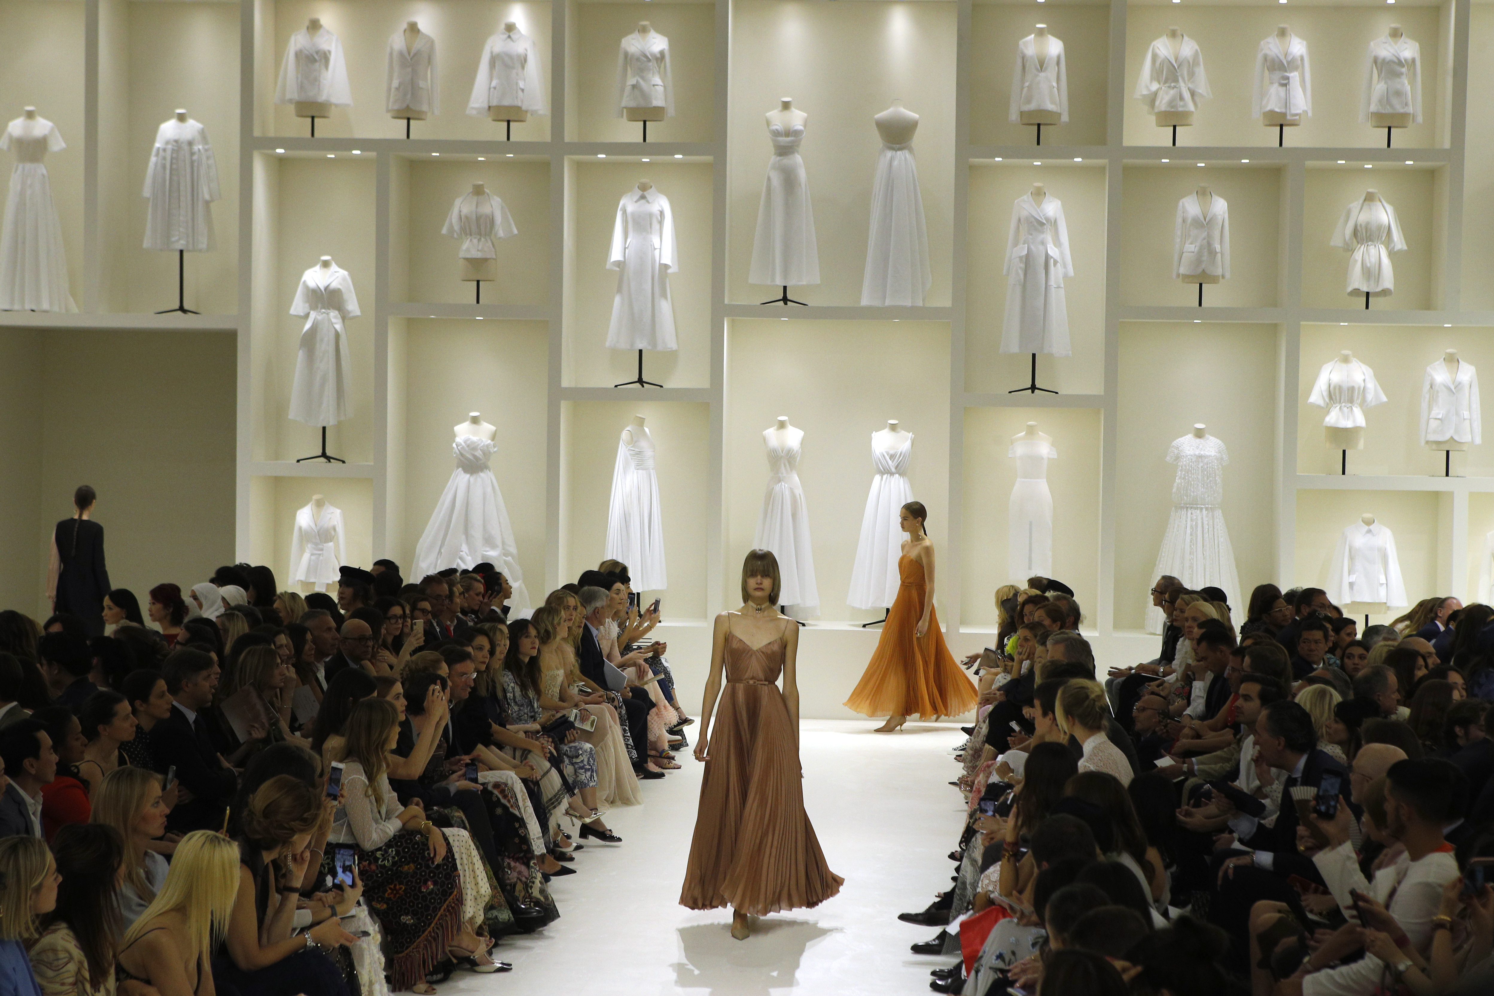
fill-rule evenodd
<path id="1" fill-rule="evenodd" d="M 545 438 L 548 326 L 429 318 L 406 324 L 403 385 L 414 400 L 403 420 L 408 514 L 387 555 L 414 563 L 415 544 L 451 478 L 451 427 L 481 412 L 498 427 L 493 475 L 533 594 L 545 576 L 545 454 L 533 443 Z"/>

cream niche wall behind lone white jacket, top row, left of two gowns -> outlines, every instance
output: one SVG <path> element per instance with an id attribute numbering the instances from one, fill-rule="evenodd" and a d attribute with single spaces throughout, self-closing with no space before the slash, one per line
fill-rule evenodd
<path id="1" fill-rule="evenodd" d="M 581 142 L 638 142 L 642 125 L 617 116 L 617 51 L 648 21 L 669 39 L 674 116 L 648 122 L 650 142 L 711 142 L 716 136 L 716 7 L 713 3 L 581 3 L 577 25 L 577 111 Z"/>

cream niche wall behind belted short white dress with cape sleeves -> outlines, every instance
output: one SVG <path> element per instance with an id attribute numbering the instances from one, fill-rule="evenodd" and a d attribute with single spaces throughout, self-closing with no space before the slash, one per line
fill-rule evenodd
<path id="1" fill-rule="evenodd" d="M 1395 311 L 1436 308 L 1431 272 L 1442 257 L 1433 236 L 1433 179 L 1425 169 L 1385 167 L 1307 170 L 1307 200 L 1303 211 L 1303 305 L 1307 308 L 1364 308 L 1364 294 L 1349 294 L 1349 251 L 1330 245 L 1343 209 L 1379 191 L 1401 222 L 1406 249 L 1391 252 L 1395 293 L 1371 299 L 1370 308 Z M 1207 296 L 1209 291 L 1204 291 Z"/>

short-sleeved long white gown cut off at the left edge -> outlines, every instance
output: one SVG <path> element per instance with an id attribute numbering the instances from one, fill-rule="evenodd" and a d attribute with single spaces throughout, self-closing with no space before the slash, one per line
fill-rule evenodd
<path id="1" fill-rule="evenodd" d="M 10 197 L 0 228 L 0 311 L 78 311 L 67 293 L 67 251 L 42 160 L 67 148 L 46 118 L 16 118 L 0 134 L 15 149 Z"/>

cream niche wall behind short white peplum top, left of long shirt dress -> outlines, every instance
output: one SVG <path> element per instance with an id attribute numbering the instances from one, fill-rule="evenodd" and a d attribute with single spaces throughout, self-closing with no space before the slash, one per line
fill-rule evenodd
<path id="1" fill-rule="evenodd" d="M 496 281 L 483 284 L 483 303 L 544 305 L 550 296 L 550 163 L 492 158 L 486 163 L 409 160 L 406 214 L 408 299 L 471 305 L 462 281 L 462 240 L 441 234 L 453 202 L 481 181 L 514 218 L 518 234 L 495 242 Z M 672 202 L 671 202 L 672 203 Z M 397 245 L 397 243 L 396 243 Z"/>

